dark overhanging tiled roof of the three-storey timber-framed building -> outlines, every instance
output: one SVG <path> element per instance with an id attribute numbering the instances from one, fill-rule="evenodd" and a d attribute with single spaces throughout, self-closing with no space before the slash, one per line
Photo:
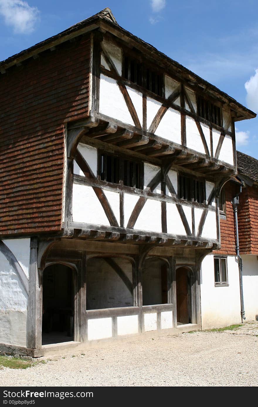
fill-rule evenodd
<path id="1" fill-rule="evenodd" d="M 119 26 L 119 24 L 117 24 L 117 21 L 115 20 L 114 15 L 108 7 L 91 16 L 90 18 L 87 18 L 86 20 L 83 20 L 67 28 L 65 31 L 62 31 L 61 33 L 54 35 L 53 37 L 45 39 L 44 41 L 39 42 L 38 44 L 35 44 L 34 46 L 27 48 L 26 50 L 23 50 L 20 53 L 15 54 L 12 57 L 9 57 L 0 62 L 0 72 L 5 73 L 6 70 L 11 66 L 17 63 L 21 63 L 22 61 L 33 57 L 33 55 L 37 55 L 47 49 L 61 44 L 64 41 L 75 38 L 78 35 L 84 34 L 88 31 L 92 31 L 96 28 L 99 28 L 100 26 L 104 26 L 104 29 L 110 31 L 114 35 L 117 35 L 117 37 L 120 37 L 121 39 L 133 42 L 134 46 L 139 48 L 141 51 L 149 51 L 149 55 L 151 55 L 152 58 L 154 58 L 160 66 L 163 65 L 168 69 L 175 69 L 177 74 L 179 74 L 179 76 L 181 76 L 185 81 L 190 83 L 190 85 L 198 86 L 203 92 L 210 92 L 215 97 L 221 99 L 225 103 L 228 103 L 237 113 L 235 121 L 256 117 L 256 114 L 254 112 L 238 103 L 234 98 L 227 95 L 225 92 L 222 92 L 221 90 L 216 88 L 216 86 L 205 81 L 189 69 L 182 66 L 180 63 L 174 61 L 167 55 L 158 51 L 152 45 L 144 42 L 142 39 L 136 37 L 129 31 L 126 31 L 124 28 Z"/>

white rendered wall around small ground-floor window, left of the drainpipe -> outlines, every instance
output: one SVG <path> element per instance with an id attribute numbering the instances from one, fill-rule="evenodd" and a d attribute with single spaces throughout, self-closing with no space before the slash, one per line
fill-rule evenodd
<path id="1" fill-rule="evenodd" d="M 214 256 L 207 255 L 201 265 L 202 329 L 216 328 L 241 322 L 238 263 L 235 256 L 227 257 L 228 286 L 216 286 Z"/>

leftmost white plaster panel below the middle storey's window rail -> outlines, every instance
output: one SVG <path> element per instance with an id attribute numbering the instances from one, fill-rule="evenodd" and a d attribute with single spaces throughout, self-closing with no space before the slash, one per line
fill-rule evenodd
<path id="1" fill-rule="evenodd" d="M 73 221 L 110 226 L 91 186 L 73 184 Z"/>

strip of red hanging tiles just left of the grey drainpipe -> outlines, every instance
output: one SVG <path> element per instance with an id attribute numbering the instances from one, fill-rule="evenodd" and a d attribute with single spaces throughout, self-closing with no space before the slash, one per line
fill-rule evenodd
<path id="1" fill-rule="evenodd" d="M 220 219 L 221 227 L 221 249 L 216 250 L 214 254 L 236 254 L 235 243 L 235 223 L 234 212 L 231 200 L 236 191 L 239 191 L 239 186 L 232 182 L 227 182 L 225 185 L 225 202 L 226 202 L 226 219 Z"/>

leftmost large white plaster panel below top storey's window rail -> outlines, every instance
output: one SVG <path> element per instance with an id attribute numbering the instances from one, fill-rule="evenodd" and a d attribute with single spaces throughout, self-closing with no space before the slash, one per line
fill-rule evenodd
<path id="1" fill-rule="evenodd" d="M 134 126 L 123 95 L 115 79 L 100 75 L 99 112 Z"/>

